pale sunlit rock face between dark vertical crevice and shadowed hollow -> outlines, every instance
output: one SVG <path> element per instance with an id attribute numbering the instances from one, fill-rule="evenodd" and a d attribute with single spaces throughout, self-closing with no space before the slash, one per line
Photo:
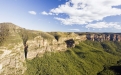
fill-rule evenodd
<path id="1" fill-rule="evenodd" d="M 57 40 L 55 39 L 47 40 L 41 36 L 35 37 L 34 40 L 28 40 L 27 45 L 28 59 L 33 59 L 44 52 L 64 51 L 67 49 L 66 43 L 57 43 Z"/>

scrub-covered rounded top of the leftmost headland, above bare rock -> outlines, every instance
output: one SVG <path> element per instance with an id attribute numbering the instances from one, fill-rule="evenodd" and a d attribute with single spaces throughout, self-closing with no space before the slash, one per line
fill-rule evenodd
<path id="1" fill-rule="evenodd" d="M 0 23 L 0 46 L 8 47 L 10 43 L 21 42 L 20 35 L 17 33 L 19 29 L 20 27 L 12 23 Z"/>

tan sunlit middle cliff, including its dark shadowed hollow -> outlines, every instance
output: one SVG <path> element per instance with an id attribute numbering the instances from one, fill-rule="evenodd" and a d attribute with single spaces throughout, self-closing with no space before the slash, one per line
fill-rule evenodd
<path id="1" fill-rule="evenodd" d="M 45 52 L 65 51 L 67 48 L 75 47 L 80 41 L 84 41 L 86 36 L 60 37 L 57 39 L 44 39 L 42 36 L 37 36 L 33 40 L 28 40 L 27 58 L 33 59 L 36 56 L 42 56 Z"/>

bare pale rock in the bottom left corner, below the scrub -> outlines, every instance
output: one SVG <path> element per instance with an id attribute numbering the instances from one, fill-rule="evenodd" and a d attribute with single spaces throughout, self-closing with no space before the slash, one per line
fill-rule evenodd
<path id="1" fill-rule="evenodd" d="M 0 75 L 22 75 L 26 70 L 23 44 L 17 44 L 12 49 L 0 47 Z"/>

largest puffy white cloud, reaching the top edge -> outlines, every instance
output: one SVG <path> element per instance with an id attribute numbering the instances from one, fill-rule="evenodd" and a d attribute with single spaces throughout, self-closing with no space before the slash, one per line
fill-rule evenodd
<path id="1" fill-rule="evenodd" d="M 45 14 L 66 14 L 68 18 L 55 17 L 65 25 L 88 24 L 100 21 L 108 16 L 121 15 L 121 9 L 113 6 L 121 5 L 121 0 L 69 0 L 65 4 L 53 8 Z M 51 14 L 50 14 L 51 13 Z"/>

